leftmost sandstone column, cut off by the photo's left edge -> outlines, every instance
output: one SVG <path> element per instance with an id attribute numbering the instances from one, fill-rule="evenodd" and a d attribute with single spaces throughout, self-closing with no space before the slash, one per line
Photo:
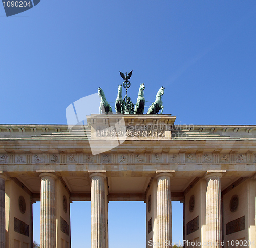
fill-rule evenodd
<path id="1" fill-rule="evenodd" d="M 0 248 L 5 248 L 5 180 L 0 175 Z"/>

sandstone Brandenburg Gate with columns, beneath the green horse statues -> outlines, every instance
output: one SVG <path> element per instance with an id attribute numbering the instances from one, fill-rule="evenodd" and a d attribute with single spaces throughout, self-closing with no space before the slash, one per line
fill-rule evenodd
<path id="1" fill-rule="evenodd" d="M 255 247 L 256 126 L 175 119 L 92 114 L 72 131 L 0 125 L 0 247 L 33 247 L 35 201 L 40 247 L 71 247 L 76 200 L 91 201 L 92 248 L 108 247 L 108 202 L 118 200 L 146 203 L 146 247 L 172 241 L 172 200 L 183 202 L 184 246 Z"/>

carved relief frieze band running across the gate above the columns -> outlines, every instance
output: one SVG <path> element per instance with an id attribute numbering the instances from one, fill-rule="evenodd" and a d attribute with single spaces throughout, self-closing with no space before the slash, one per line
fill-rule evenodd
<path id="1" fill-rule="evenodd" d="M 256 163 L 256 155 L 240 153 L 136 153 L 126 154 L 111 152 L 109 154 L 0 154 L 0 164 L 252 164 Z"/>

